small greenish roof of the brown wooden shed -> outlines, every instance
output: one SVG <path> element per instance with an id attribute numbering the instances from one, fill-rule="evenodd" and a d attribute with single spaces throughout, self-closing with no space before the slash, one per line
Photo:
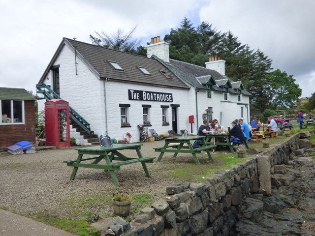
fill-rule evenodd
<path id="1" fill-rule="evenodd" d="M 2 100 L 26 100 L 35 101 L 36 99 L 25 89 L 14 89 L 0 87 L 0 99 Z"/>

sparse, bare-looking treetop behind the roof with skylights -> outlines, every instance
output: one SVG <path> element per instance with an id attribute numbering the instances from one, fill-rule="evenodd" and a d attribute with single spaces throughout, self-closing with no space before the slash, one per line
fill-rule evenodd
<path id="1" fill-rule="evenodd" d="M 115 33 L 111 34 L 108 34 L 104 31 L 101 33 L 95 31 L 99 38 L 90 34 L 90 39 L 92 40 L 93 44 L 98 46 L 103 46 L 123 52 L 136 52 L 141 43 L 141 40 L 131 39 L 132 34 L 136 28 L 137 26 L 135 26 L 126 34 L 124 33 L 124 30 L 120 28 L 117 29 Z M 140 50 L 142 49 L 140 48 Z"/>

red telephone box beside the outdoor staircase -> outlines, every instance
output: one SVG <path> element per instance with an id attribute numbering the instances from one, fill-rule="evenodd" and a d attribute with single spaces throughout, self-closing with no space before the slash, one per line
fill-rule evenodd
<path id="1" fill-rule="evenodd" d="M 62 99 L 45 102 L 46 145 L 70 146 L 69 103 Z"/>

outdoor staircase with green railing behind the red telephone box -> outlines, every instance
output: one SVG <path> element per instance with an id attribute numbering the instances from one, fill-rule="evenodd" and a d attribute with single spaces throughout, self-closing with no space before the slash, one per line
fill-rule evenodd
<path id="1" fill-rule="evenodd" d="M 44 97 L 38 98 L 46 99 L 46 101 L 51 99 L 62 99 L 50 86 L 46 84 L 37 84 L 36 85 L 37 93 L 43 94 Z M 84 119 L 79 113 L 77 113 L 73 108 L 69 106 L 69 115 L 70 115 L 70 125 L 72 129 L 75 129 L 74 138 L 76 143 L 79 145 L 98 145 L 98 137 L 94 134 L 94 131 L 90 128 L 90 123 Z"/>

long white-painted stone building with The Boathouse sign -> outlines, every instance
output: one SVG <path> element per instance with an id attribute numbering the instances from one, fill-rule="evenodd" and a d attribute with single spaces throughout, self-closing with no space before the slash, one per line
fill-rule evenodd
<path id="1" fill-rule="evenodd" d="M 73 118 L 85 123 L 88 132 L 117 140 L 128 132 L 139 142 L 137 125 L 149 122 L 145 127 L 158 134 L 170 129 L 196 134 L 203 118 L 217 118 L 224 126 L 235 118 L 249 121 L 250 93 L 209 67 L 219 64 L 224 71 L 223 60 L 207 62 L 212 68 L 207 69 L 169 59 L 166 42 L 148 45 L 147 50 L 150 58 L 63 38 L 37 92 L 46 100 L 69 102 Z M 44 109 L 44 100 L 38 108 Z M 192 127 L 189 116 L 194 116 Z M 79 133 L 71 137 L 77 144 L 89 144 Z"/>

